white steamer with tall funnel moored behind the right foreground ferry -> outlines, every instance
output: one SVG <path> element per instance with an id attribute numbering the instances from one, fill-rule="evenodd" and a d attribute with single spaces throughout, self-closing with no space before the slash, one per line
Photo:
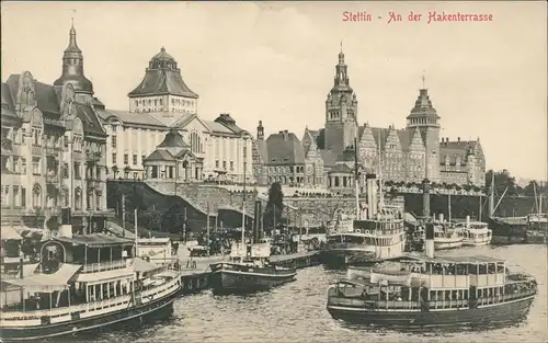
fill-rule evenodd
<path id="1" fill-rule="evenodd" d="M 354 219 L 352 231 L 328 232 L 323 251 L 327 265 L 367 264 L 398 259 L 403 254 L 406 227 L 402 214 L 398 208 L 384 206 L 383 201 L 377 204 L 376 183 L 375 175 L 367 175 L 367 218 Z"/>

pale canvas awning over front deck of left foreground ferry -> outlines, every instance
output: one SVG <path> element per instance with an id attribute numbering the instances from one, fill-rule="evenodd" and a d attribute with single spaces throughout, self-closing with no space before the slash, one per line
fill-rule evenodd
<path id="1" fill-rule="evenodd" d="M 64 290 L 68 282 L 81 268 L 80 264 L 64 263 L 54 274 L 35 274 L 28 277 L 4 279 L 4 283 L 23 287 L 25 290 L 52 293 Z M 24 268 L 23 268 L 24 273 Z"/>

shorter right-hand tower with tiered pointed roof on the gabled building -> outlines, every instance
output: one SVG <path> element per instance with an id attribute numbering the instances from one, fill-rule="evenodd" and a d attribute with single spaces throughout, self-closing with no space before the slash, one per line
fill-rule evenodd
<path id="1" fill-rule="evenodd" d="M 419 96 L 411 113 L 407 117 L 408 129 L 419 129 L 426 150 L 424 178 L 431 182 L 439 182 L 439 128 L 441 117 L 432 105 L 429 90 L 424 87 L 419 90 Z"/>

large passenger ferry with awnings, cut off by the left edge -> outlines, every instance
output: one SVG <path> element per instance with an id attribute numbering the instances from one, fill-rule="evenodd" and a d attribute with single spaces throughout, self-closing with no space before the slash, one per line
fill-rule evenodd
<path id="1" fill-rule="evenodd" d="M 43 243 L 35 273 L 1 281 L 0 341 L 42 340 L 171 313 L 180 274 L 136 258 L 134 249 L 133 240 L 72 235 L 64 225 Z"/>

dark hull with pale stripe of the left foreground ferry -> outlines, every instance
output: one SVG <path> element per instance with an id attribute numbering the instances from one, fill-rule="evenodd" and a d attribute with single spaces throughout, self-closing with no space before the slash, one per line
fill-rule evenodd
<path id="1" fill-rule="evenodd" d="M 158 298 L 139 307 L 132 307 L 122 311 L 104 316 L 95 316 L 70 322 L 52 323 L 39 327 L 2 328 L 0 342 L 28 342 L 57 338 L 80 332 L 102 329 L 113 324 L 122 324 L 132 320 L 146 320 L 151 317 L 169 316 L 173 310 L 173 301 L 179 291 Z"/>

